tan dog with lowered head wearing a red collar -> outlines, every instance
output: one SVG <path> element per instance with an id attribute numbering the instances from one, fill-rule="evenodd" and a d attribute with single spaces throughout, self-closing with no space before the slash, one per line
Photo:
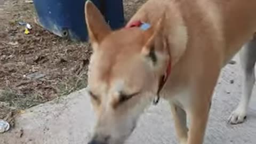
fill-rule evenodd
<path id="1" fill-rule="evenodd" d="M 255 13 L 255 0 L 149 0 L 128 24 L 139 20 L 149 29 L 112 31 L 87 1 L 94 51 L 89 93 L 98 118 L 89 143 L 123 143 L 161 90 L 159 96 L 170 101 L 179 142 L 202 144 L 220 71 L 252 39 Z M 166 82 L 163 76 L 169 76 Z"/>

